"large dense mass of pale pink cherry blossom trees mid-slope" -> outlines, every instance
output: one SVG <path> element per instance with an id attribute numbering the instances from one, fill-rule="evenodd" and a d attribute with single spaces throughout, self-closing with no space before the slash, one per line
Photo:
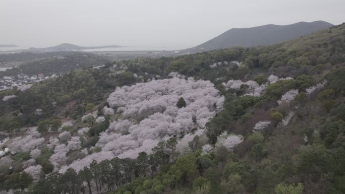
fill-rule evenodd
<path id="1" fill-rule="evenodd" d="M 112 121 L 100 134 L 96 147 L 102 148 L 101 152 L 63 166 L 60 171 L 64 172 L 68 167 L 78 171 L 94 159 L 136 158 L 140 152 L 151 153 L 159 141 L 169 136 L 181 138 L 179 151 L 189 149 L 188 142 L 196 135 L 203 135 L 205 124 L 222 109 L 224 97 L 210 81 L 172 76 L 172 79 L 118 87 L 107 102 L 122 114 L 122 118 Z M 176 104 L 181 97 L 186 101 L 186 107 L 178 108 Z M 192 134 L 196 128 L 199 130 Z M 62 148 L 62 155 L 64 153 L 66 150 Z"/>

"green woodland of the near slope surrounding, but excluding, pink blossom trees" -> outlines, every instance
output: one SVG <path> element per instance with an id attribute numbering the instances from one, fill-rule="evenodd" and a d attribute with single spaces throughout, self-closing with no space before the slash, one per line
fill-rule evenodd
<path id="1" fill-rule="evenodd" d="M 242 63 L 231 62 L 234 60 Z M 47 158 L 52 150 L 46 148 L 36 159 L 45 167 L 38 181 L 21 173 L 21 162 L 28 159 L 28 153 L 19 153 L 13 157 L 17 164 L 13 169 L 0 169 L 0 189 L 86 193 L 87 183 L 95 180 L 97 191 L 92 193 L 345 193 L 344 23 L 272 46 L 113 64 L 116 66 L 107 63 L 100 69 L 73 70 L 36 83 L 25 92 L 1 91 L 0 99 L 17 97 L 0 104 L 0 128 L 15 132 L 29 123 L 51 121 L 61 114 L 52 102 L 68 107 L 65 116 L 78 119 L 87 111 L 87 104 L 104 102 L 116 86 L 146 82 L 157 75 L 167 78 L 170 72 L 210 80 L 225 97 L 223 109 L 206 124 L 206 137 L 195 136 L 189 142 L 189 153 L 170 152 L 176 149 L 176 139 L 170 137 L 150 155 L 142 152 L 136 159 L 95 161 L 79 173 L 70 168 L 61 174 L 50 173 L 53 169 Z M 273 78 L 276 80 L 270 81 Z M 226 88 L 229 80 L 248 84 Z M 250 80 L 270 84 L 261 95 L 245 95 Z M 292 95 L 297 89 L 298 94 Z M 282 97 L 290 100 L 279 102 Z M 37 108 L 43 114 L 34 114 Z M 109 124 L 110 118 L 105 119 L 105 124 L 82 124 L 92 128 L 83 148 L 95 145 L 94 140 Z M 76 133 L 73 127 L 65 130 Z M 224 134 L 241 137 L 243 142 L 233 149 L 218 146 Z M 202 151 L 206 144 L 214 148 Z M 93 152 L 97 149 L 101 148 L 95 147 Z M 79 156 L 75 159 L 82 158 Z"/>

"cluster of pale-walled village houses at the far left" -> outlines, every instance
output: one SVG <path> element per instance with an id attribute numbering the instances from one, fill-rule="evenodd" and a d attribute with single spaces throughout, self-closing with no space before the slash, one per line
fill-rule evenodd
<path id="1" fill-rule="evenodd" d="M 51 76 L 45 76 L 43 74 L 28 76 L 26 74 L 18 74 L 17 77 L 12 76 L 4 76 L 2 79 L 0 79 L 0 91 L 11 89 L 13 87 L 18 87 L 27 83 L 35 83 L 40 82 L 45 79 L 49 78 L 55 78 L 57 77 L 56 74 L 53 74 Z"/>

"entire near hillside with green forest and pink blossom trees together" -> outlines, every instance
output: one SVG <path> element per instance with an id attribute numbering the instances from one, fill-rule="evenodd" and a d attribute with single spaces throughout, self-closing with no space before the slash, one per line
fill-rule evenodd
<path id="1" fill-rule="evenodd" d="M 0 190 L 345 193 L 344 48 L 345 23 L 1 91 L 2 130 L 38 127 L 6 145 Z M 62 117 L 75 122 L 59 130 Z"/>

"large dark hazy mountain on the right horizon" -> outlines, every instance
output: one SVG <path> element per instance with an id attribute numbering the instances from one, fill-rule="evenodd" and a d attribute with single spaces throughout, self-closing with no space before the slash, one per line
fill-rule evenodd
<path id="1" fill-rule="evenodd" d="M 328 22 L 299 22 L 291 25 L 257 26 L 252 28 L 233 28 L 219 36 L 185 51 L 204 51 L 234 46 L 253 47 L 271 45 L 334 26 Z"/>

